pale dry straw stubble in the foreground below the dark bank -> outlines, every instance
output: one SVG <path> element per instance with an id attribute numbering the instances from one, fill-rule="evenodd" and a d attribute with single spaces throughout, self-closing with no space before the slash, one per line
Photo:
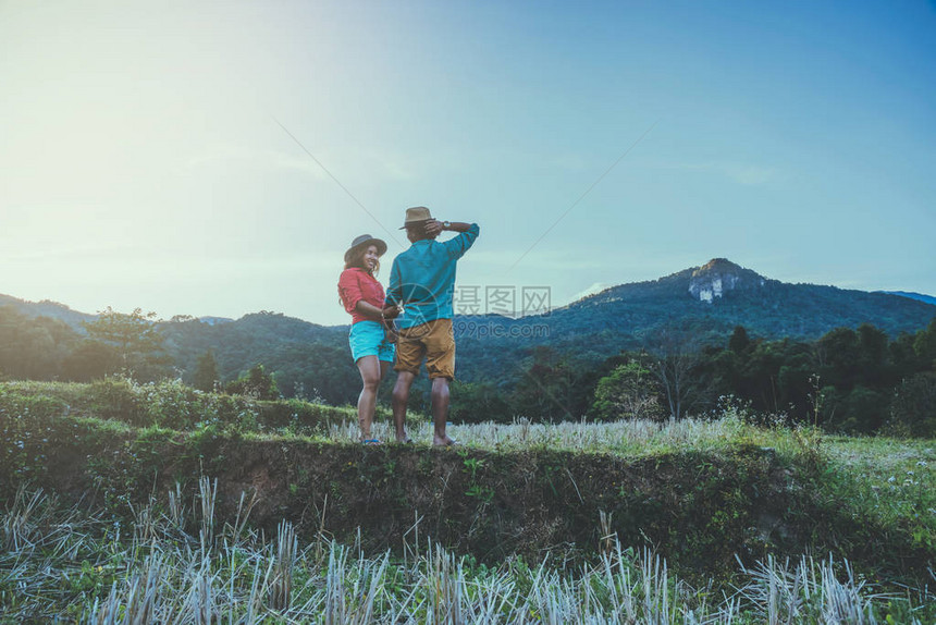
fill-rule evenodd
<path id="1" fill-rule="evenodd" d="M 735 589 L 693 587 L 652 551 L 614 536 L 561 572 L 457 556 L 418 534 L 402 557 L 365 556 L 319 535 L 249 529 L 251 505 L 218 526 L 212 482 L 188 507 L 173 492 L 121 527 L 21 491 L 0 513 L 0 623 L 928 623 L 936 597 L 882 592 L 848 562 L 768 559 Z M 163 507 L 163 505 L 165 505 Z M 188 528 L 188 529 L 187 529 Z"/>

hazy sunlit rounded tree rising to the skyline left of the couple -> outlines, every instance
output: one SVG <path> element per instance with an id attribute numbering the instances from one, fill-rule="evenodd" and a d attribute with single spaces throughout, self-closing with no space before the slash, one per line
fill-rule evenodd
<path id="1" fill-rule="evenodd" d="M 156 312 L 141 308 L 130 315 L 110 306 L 94 321 L 84 323 L 93 341 L 112 348 L 114 361 L 108 373 L 124 372 L 136 379 L 155 379 L 164 371 L 168 358 L 162 354 L 163 336 L 157 327 Z"/>

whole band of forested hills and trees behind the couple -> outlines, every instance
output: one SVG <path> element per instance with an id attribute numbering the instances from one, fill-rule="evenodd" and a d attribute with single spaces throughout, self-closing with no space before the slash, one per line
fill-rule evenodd
<path id="1" fill-rule="evenodd" d="M 235 321 L 163 321 L 139 309 L 89 316 L 5 301 L 7 378 L 89 381 L 123 372 L 330 404 L 354 403 L 360 391 L 346 326 L 268 311 Z M 931 431 L 934 318 L 936 306 L 924 302 L 785 284 L 714 259 L 549 315 L 456 317 L 452 417 L 681 417 L 732 396 L 832 429 L 876 431 L 894 421 Z M 414 409 L 427 407 L 424 385 L 415 389 Z M 387 384 L 382 394 L 387 400 Z"/>

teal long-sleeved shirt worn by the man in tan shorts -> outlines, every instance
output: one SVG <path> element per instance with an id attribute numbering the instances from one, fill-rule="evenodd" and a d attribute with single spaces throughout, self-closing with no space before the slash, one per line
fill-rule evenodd
<path id="1" fill-rule="evenodd" d="M 393 259 L 386 305 L 402 304 L 398 328 L 411 328 L 434 319 L 452 319 L 455 266 L 468 252 L 481 229 L 477 223 L 445 242 L 424 238 Z"/>

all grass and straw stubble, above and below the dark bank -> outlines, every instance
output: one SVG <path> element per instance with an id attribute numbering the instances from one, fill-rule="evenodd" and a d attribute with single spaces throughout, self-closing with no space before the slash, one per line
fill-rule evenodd
<path id="1" fill-rule="evenodd" d="M 830 437 L 812 428 L 779 425 L 781 419 L 748 417 L 729 406 L 717 417 L 680 421 L 542 425 L 517 419 L 510 425 L 456 425 L 449 431 L 464 446 L 441 451 L 429 449 L 430 422 L 410 415 L 415 446 L 361 450 L 355 443 L 356 414 L 347 407 L 257 402 L 200 393 L 177 382 L 0 383 L 4 475 L 16 483 L 41 481 L 56 463 L 35 450 L 44 452 L 38 443 L 54 436 L 96 445 L 102 455 L 89 458 L 89 466 L 100 479 L 109 480 L 107 508 L 79 510 L 58 503 L 54 494 L 22 489 L 7 502 L 0 516 L 5 548 L 0 556 L 0 613 L 4 614 L 0 623 L 50 618 L 110 623 L 131 613 L 156 614 L 152 618 L 164 622 L 199 622 L 197 614 L 211 613 L 225 622 L 258 623 L 327 622 L 324 615 L 331 615 L 330 622 L 361 623 L 457 617 L 504 623 L 614 622 L 615 617 L 631 622 L 627 615 L 660 623 L 936 620 L 936 602 L 928 590 L 936 586 L 932 574 L 936 440 Z M 764 420 L 777 425 L 752 425 Z M 385 409 L 374 432 L 384 440 L 393 438 Z M 27 444 L 30 441 L 37 444 Z M 754 462 L 768 458 L 772 467 L 789 473 L 790 488 L 796 485 L 809 491 L 806 499 L 813 501 L 814 512 L 824 515 L 823 523 L 842 526 L 836 535 L 841 542 L 832 560 L 821 552 L 815 559 L 790 553 L 789 561 L 771 553 L 711 586 L 693 578 L 693 586 L 687 577 L 664 568 L 655 553 L 642 551 L 645 541 L 619 544 L 604 512 L 601 548 L 595 552 L 589 546 L 591 555 L 570 566 L 555 560 L 562 557 L 557 552 L 552 561 L 510 556 L 491 563 L 470 553 L 458 556 L 432 543 L 418 524 L 395 555 L 365 555 L 360 544 L 337 544 L 323 532 L 312 540 L 306 532 L 303 541 L 288 524 L 275 537 L 264 536 L 251 529 L 247 502 L 242 502 L 244 514 L 238 512 L 233 520 L 215 518 L 214 497 L 204 479 L 196 495 L 192 489 L 156 493 L 150 501 L 128 495 L 132 490 L 152 492 L 146 485 L 152 483 L 153 466 L 165 459 L 167 449 L 181 450 L 180 458 L 217 475 L 212 471 L 224 468 L 225 459 L 211 453 L 231 441 L 237 441 L 237 449 L 282 443 L 284 449 L 336 450 L 341 453 L 335 457 L 352 459 L 336 480 L 347 481 L 352 490 L 392 491 L 404 502 L 408 500 L 394 481 L 401 474 L 396 463 L 415 463 L 407 475 L 427 480 L 452 475 L 444 471 L 454 468 L 453 483 L 458 478 L 461 486 L 453 505 L 460 514 L 476 515 L 478 523 L 489 518 L 491 511 L 501 514 L 498 506 L 510 495 L 504 491 L 509 480 L 498 471 L 522 470 L 516 463 L 524 458 L 540 466 L 528 478 L 517 478 L 517 483 L 540 480 L 542 486 L 537 488 L 545 489 L 543 501 L 552 502 L 549 505 L 581 500 L 581 488 L 589 505 L 600 501 L 608 506 L 602 511 L 617 506 L 617 514 L 627 513 L 627 505 L 600 499 L 607 491 L 600 488 L 607 486 L 600 483 L 602 475 L 595 476 L 593 485 L 582 481 L 591 475 L 576 473 L 577 483 L 571 470 L 589 471 L 614 461 L 616 470 L 626 473 L 627 463 L 658 466 L 676 458 L 676 466 L 687 462 L 711 482 L 700 485 L 704 489 L 698 493 L 682 493 L 679 505 L 693 505 L 686 498 L 699 493 L 715 494 L 726 506 L 739 502 L 737 511 L 725 507 L 713 515 L 711 526 L 723 531 L 737 525 L 731 515 L 743 512 L 749 495 L 741 490 L 721 492 L 729 480 L 719 477 L 718 470 L 744 469 L 748 461 L 709 470 L 710 459 L 717 464 L 739 450 L 754 450 Z M 290 478 L 295 479 L 288 489 L 292 500 L 307 497 L 311 488 L 303 481 L 303 470 L 299 467 Z M 332 483 L 331 492 L 348 492 L 342 488 L 343 482 Z M 638 507 L 658 501 L 654 493 L 621 492 L 625 495 Z M 349 502 L 333 498 L 330 504 L 336 514 L 335 506 Z M 570 514 L 575 508 L 568 505 Z M 666 516 L 665 510 L 660 512 Z M 324 519 L 321 523 L 324 528 Z M 598 525 L 598 514 L 576 523 Z M 815 525 L 820 538 L 823 531 L 836 529 Z M 353 528 L 347 528 L 344 536 L 353 535 Z M 704 553 L 704 542 L 692 549 Z M 922 569 L 921 557 L 926 563 Z M 878 562 L 886 566 L 875 566 Z M 906 575 L 904 563 L 915 563 L 913 576 Z M 909 587 L 901 592 L 901 585 Z M 886 621 L 888 614 L 892 621 Z"/>

